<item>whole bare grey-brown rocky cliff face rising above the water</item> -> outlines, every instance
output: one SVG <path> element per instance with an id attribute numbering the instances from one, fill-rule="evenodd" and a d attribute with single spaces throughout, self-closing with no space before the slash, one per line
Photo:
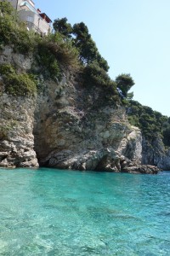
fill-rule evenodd
<path id="1" fill-rule="evenodd" d="M 11 63 L 19 73 L 33 61 L 8 47 L 0 55 L 0 64 Z M 39 81 L 37 96 L 11 96 L 0 77 L 0 166 L 148 173 L 157 170 L 141 163 L 163 167 L 164 160 L 149 160 L 155 153 L 129 125 L 125 108 L 105 101 L 105 90 L 82 85 L 79 73 L 64 68 L 60 82 Z"/>

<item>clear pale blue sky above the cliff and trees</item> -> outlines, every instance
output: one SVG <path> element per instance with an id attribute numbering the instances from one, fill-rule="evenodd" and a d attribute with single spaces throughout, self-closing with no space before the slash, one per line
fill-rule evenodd
<path id="1" fill-rule="evenodd" d="M 170 116 L 170 0 L 34 0 L 51 20 L 83 21 L 110 76 L 130 73 L 134 100 Z"/>

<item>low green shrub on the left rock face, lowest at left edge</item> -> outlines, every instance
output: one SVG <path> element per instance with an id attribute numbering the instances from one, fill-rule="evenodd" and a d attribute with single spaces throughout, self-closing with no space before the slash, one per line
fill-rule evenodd
<path id="1" fill-rule="evenodd" d="M 3 77 L 5 91 L 13 96 L 35 96 L 37 81 L 27 73 L 18 74 L 9 64 L 0 66 L 0 75 Z"/>

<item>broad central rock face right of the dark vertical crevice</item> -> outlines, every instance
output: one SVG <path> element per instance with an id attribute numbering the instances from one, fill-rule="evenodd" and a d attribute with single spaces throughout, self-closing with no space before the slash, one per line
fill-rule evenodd
<path id="1" fill-rule="evenodd" d="M 124 108 L 102 102 L 102 89 L 82 87 L 70 73 L 46 83 L 34 121 L 40 166 L 121 172 L 123 162 L 141 162 L 139 129 L 128 124 Z"/>

